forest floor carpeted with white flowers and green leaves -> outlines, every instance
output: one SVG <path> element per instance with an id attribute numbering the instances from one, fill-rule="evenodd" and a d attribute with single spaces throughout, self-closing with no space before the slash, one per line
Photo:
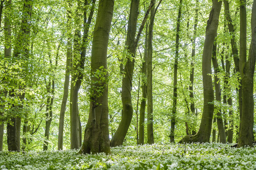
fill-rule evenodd
<path id="1" fill-rule="evenodd" d="M 0 152 L 0 170 L 254 170 L 256 149 L 230 144 L 153 144 L 111 148 L 112 154 L 77 150 Z"/>

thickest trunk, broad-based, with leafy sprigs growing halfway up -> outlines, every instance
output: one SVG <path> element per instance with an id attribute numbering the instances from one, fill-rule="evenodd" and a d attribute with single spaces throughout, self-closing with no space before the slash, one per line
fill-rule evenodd
<path id="1" fill-rule="evenodd" d="M 91 50 L 91 104 L 79 153 L 110 153 L 107 49 L 114 0 L 100 0 Z"/>

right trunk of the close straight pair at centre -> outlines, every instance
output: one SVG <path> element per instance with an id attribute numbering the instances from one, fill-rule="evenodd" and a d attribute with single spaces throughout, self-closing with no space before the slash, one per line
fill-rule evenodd
<path id="1" fill-rule="evenodd" d="M 155 2 L 154 2 L 155 3 Z M 147 143 L 154 143 L 153 134 L 153 96 L 152 96 L 152 40 L 153 40 L 153 26 L 155 17 L 155 8 L 151 8 L 150 11 L 150 23 L 148 27 L 148 39 L 147 39 Z"/>

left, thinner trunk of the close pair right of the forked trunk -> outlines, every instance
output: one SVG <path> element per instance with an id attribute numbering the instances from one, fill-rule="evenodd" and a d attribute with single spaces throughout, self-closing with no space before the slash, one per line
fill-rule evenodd
<path id="1" fill-rule="evenodd" d="M 144 122 L 145 122 L 145 108 L 147 102 L 147 26 L 145 37 L 144 57 L 142 62 L 141 85 L 142 98 L 140 107 L 140 122 L 139 122 L 139 144 L 144 144 Z"/>

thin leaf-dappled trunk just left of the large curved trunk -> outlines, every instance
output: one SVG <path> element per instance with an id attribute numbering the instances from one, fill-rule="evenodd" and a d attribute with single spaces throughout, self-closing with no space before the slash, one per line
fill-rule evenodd
<path id="1" fill-rule="evenodd" d="M 196 3 L 196 16 L 195 16 L 195 20 L 194 20 L 194 35 L 193 35 L 193 39 L 192 39 L 192 53 L 191 53 L 191 65 L 190 65 L 190 85 L 189 85 L 189 97 L 191 99 L 191 103 L 190 103 L 190 110 L 192 112 L 192 115 L 196 115 L 195 113 L 195 106 L 194 106 L 194 91 L 193 91 L 193 86 L 194 86 L 194 60 L 195 60 L 195 48 L 196 48 L 196 35 L 197 35 L 197 23 L 198 23 L 198 0 Z M 192 135 L 195 135 L 196 131 L 194 130 L 194 128 L 192 129 Z"/>

